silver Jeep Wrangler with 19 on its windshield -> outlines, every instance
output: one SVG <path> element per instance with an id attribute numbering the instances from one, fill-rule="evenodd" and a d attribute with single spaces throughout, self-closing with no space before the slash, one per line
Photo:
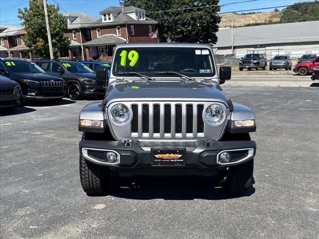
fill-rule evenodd
<path id="1" fill-rule="evenodd" d="M 80 179 L 87 194 L 105 194 L 120 176 L 220 176 L 230 193 L 253 183 L 256 131 L 249 108 L 220 88 L 213 50 L 205 44 L 123 44 L 115 49 L 102 103 L 80 113 Z"/>

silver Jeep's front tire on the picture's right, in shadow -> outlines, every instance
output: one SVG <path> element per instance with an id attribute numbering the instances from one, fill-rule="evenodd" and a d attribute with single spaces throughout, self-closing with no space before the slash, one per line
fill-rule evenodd
<path id="1" fill-rule="evenodd" d="M 243 194 L 253 184 L 254 159 L 229 167 L 222 181 L 222 188 L 232 194 Z"/>

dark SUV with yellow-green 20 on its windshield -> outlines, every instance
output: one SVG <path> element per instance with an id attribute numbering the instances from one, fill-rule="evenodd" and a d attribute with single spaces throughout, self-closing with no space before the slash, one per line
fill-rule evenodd
<path id="1" fill-rule="evenodd" d="M 47 74 L 62 77 L 66 83 L 66 93 L 72 100 L 79 100 L 82 96 L 105 95 L 106 81 L 97 80 L 95 72 L 82 63 L 50 59 L 33 62 Z"/>

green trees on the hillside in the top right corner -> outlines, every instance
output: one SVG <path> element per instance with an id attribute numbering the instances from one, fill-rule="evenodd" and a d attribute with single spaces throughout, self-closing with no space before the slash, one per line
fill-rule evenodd
<path id="1" fill-rule="evenodd" d="M 300 3 L 305 2 L 295 3 L 282 10 L 280 22 L 287 23 L 319 20 L 319 1 L 315 1 L 311 4 L 298 5 Z"/>

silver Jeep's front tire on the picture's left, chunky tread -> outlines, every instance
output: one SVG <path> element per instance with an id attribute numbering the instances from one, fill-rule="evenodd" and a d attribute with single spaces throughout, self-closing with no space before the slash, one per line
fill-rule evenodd
<path id="1" fill-rule="evenodd" d="M 84 192 L 88 195 L 106 194 L 110 182 L 110 170 L 80 156 L 80 180 Z"/>

